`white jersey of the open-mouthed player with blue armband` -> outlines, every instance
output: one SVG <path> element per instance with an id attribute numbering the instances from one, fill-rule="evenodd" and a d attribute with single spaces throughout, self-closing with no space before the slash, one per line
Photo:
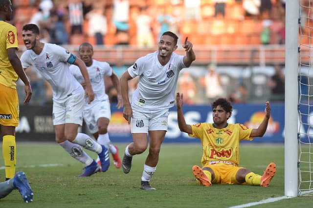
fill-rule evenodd
<path id="1" fill-rule="evenodd" d="M 26 50 L 21 57 L 23 68 L 34 66 L 50 83 L 53 100 L 62 102 L 68 96 L 82 93 L 84 89 L 68 69 L 67 60 L 71 53 L 65 48 L 51 43 L 45 43 L 43 51 L 37 55 L 33 50 Z"/>

